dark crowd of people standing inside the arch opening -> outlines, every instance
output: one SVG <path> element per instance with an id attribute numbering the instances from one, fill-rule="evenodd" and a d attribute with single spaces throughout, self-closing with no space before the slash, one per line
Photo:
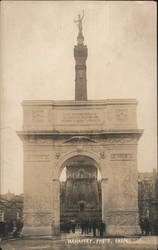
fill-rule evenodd
<path id="1" fill-rule="evenodd" d="M 84 220 L 75 222 L 75 220 L 67 221 L 61 224 L 61 231 L 64 233 L 75 233 L 76 229 L 80 230 L 81 234 L 93 234 L 93 237 L 100 236 L 106 233 L 106 225 L 101 220 Z"/>

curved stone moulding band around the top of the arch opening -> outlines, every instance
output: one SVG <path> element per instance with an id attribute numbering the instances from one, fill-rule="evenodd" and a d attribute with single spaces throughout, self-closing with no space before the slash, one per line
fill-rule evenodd
<path id="1" fill-rule="evenodd" d="M 95 167 L 97 169 L 99 169 L 100 174 L 102 176 L 102 167 L 101 167 L 101 160 L 99 159 L 98 155 L 96 153 L 90 152 L 90 151 L 82 151 L 82 152 L 78 152 L 77 150 L 69 152 L 67 154 L 65 154 L 63 157 L 61 157 L 61 159 L 59 159 L 59 161 L 56 164 L 56 169 L 57 169 L 57 178 L 59 179 L 60 174 L 62 172 L 62 170 L 65 167 L 65 162 L 70 159 L 73 158 L 75 156 L 86 156 L 90 159 L 92 159 L 95 163 Z"/>

